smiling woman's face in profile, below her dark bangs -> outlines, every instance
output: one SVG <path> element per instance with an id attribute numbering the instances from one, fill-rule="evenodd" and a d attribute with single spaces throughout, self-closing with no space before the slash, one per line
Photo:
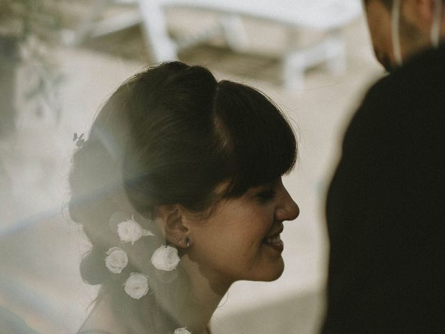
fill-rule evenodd
<path id="1" fill-rule="evenodd" d="M 204 221 L 193 221 L 188 257 L 209 279 L 270 281 L 284 269 L 283 221 L 300 210 L 281 177 L 248 189 L 240 198 L 223 199 Z"/>

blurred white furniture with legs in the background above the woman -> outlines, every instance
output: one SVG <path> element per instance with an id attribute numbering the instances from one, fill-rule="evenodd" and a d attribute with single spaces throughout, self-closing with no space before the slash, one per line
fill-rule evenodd
<path id="1" fill-rule="evenodd" d="M 106 6 L 116 2 L 133 3 L 138 10 L 97 22 Z M 219 15 L 220 20 L 213 29 L 172 40 L 165 22 L 165 10 L 170 8 L 211 10 Z M 308 67 L 327 63 L 334 72 L 345 70 L 346 54 L 341 29 L 361 11 L 361 3 L 357 0 L 97 0 L 88 17 L 79 25 L 72 42 L 79 43 L 88 35 L 102 35 L 142 23 L 147 49 L 152 59 L 158 62 L 174 60 L 179 49 L 207 40 L 216 33 L 223 33 L 232 49 L 242 49 L 245 33 L 240 17 L 277 22 L 296 32 L 302 29 L 323 31 L 325 38 L 316 45 L 301 48 L 296 41 L 289 44 L 283 55 L 284 86 L 302 88 Z"/>

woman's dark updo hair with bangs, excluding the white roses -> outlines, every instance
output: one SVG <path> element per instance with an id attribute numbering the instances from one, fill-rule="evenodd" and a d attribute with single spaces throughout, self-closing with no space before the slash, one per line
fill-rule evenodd
<path id="1" fill-rule="evenodd" d="M 92 244 L 81 275 L 102 284 L 99 298 L 110 296 L 117 315 L 131 313 L 147 333 L 168 333 L 179 325 L 173 315 L 187 298 L 188 278 L 179 265 L 177 279 L 161 280 L 147 265 L 154 248 L 165 244 L 152 221 L 154 207 L 179 204 L 204 212 L 220 198 L 241 196 L 288 173 L 297 157 L 293 130 L 258 90 L 218 82 L 204 67 L 172 62 L 125 81 L 87 138 L 70 174 L 70 215 Z M 214 190 L 222 182 L 229 186 L 218 197 Z M 133 214 L 155 234 L 128 249 L 126 270 L 149 277 L 152 293 L 140 301 L 122 292 L 122 281 L 104 264 L 106 250 L 120 244 L 110 223 L 115 212 Z"/>

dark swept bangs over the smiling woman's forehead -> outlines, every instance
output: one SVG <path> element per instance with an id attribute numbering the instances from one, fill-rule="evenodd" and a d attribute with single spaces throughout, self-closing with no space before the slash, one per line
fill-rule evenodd
<path id="1" fill-rule="evenodd" d="M 273 181 L 296 163 L 296 136 L 286 116 L 258 90 L 220 81 L 213 112 L 232 177 L 227 197 Z"/>

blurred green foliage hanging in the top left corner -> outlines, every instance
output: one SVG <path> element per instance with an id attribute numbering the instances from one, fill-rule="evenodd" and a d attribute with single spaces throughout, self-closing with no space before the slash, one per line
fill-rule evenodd
<path id="1" fill-rule="evenodd" d="M 26 77 L 22 98 L 33 102 L 35 113 L 50 109 L 58 120 L 58 86 L 63 77 L 52 56 L 61 22 L 56 1 L 0 0 L 0 38 L 13 38 L 19 49 Z"/>

